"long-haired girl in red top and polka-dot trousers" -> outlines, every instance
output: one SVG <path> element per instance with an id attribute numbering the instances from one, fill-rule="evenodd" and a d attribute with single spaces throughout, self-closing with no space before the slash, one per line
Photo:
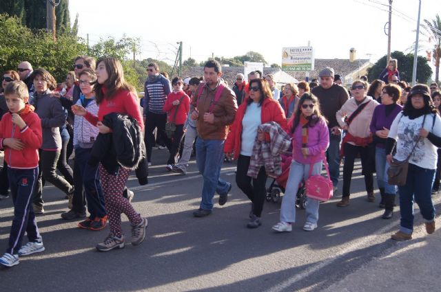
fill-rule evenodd
<path id="1" fill-rule="evenodd" d="M 116 58 L 103 58 L 96 66 L 96 84 L 94 86 L 95 100 L 99 104 L 98 116 L 86 111 L 83 106 L 72 106 L 75 115 L 83 115 L 91 124 L 99 128 L 99 133 L 111 133 L 112 129 L 101 121 L 109 113 L 121 113 L 134 117 L 144 128 L 143 118 L 139 110 L 138 100 L 134 88 L 124 80 L 123 67 Z M 132 224 L 132 245 L 139 245 L 145 239 L 147 218 L 137 213 L 130 201 L 123 197 L 125 183 L 129 177 L 130 169 L 119 167 L 116 175 L 107 172 L 99 164 L 99 177 L 103 188 L 105 208 L 109 216 L 110 234 L 103 243 L 96 245 L 99 251 L 110 251 L 123 248 L 125 244 L 121 229 L 121 213 L 124 213 Z"/>

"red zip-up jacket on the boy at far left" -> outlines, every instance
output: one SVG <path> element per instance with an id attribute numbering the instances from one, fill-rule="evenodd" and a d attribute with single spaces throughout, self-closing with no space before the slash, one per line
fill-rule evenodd
<path id="1" fill-rule="evenodd" d="M 12 114 L 5 113 L 0 122 L 0 147 L 3 139 L 16 138 L 25 144 L 23 150 L 5 147 L 5 161 L 10 168 L 31 169 L 39 166 L 39 148 L 43 142 L 41 121 L 33 107 L 28 104 L 20 113 L 26 126 L 20 131 L 19 126 L 12 123 Z"/>

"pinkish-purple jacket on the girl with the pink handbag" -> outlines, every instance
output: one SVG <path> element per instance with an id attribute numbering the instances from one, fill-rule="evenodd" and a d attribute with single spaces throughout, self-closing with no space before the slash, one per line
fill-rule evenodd
<path id="1" fill-rule="evenodd" d="M 322 151 L 326 151 L 329 146 L 329 129 L 325 120 L 320 121 L 308 131 L 308 143 L 309 155 L 307 157 L 302 155 L 302 127 L 300 124 L 297 126 L 296 131 L 291 134 L 292 138 L 292 154 L 294 160 L 300 162 L 300 164 L 315 164 L 322 160 Z"/>

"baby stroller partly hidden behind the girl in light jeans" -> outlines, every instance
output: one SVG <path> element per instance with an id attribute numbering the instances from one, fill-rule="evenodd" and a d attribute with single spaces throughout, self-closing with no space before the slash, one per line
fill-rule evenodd
<path id="1" fill-rule="evenodd" d="M 289 166 L 291 166 L 292 156 L 282 155 L 282 174 L 274 179 L 267 189 L 266 199 L 268 202 L 272 201 L 277 203 L 280 199 L 280 193 L 285 193 L 285 188 L 287 186 L 287 181 L 289 177 Z M 298 186 L 298 191 L 296 194 L 296 207 L 300 209 L 305 209 L 306 205 L 306 192 L 305 192 L 305 182 L 302 181 L 300 186 Z"/>

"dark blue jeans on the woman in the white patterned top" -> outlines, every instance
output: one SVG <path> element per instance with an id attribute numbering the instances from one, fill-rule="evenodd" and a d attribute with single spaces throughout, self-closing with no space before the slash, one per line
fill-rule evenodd
<path id="1" fill-rule="evenodd" d="M 399 186 L 400 192 L 400 231 L 405 234 L 413 232 L 413 199 L 415 198 L 422 218 L 432 222 L 435 218 L 435 207 L 431 198 L 431 190 L 434 169 L 420 168 L 415 164 L 409 164 L 407 180 L 404 186 Z"/>

